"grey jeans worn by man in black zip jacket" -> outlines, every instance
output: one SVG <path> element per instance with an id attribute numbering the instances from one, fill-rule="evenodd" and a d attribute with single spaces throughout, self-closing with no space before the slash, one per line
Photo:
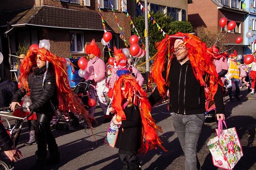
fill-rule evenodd
<path id="1" fill-rule="evenodd" d="M 200 169 L 196 147 L 204 124 L 204 113 L 183 115 L 172 113 L 173 125 L 185 154 L 185 170 Z"/>

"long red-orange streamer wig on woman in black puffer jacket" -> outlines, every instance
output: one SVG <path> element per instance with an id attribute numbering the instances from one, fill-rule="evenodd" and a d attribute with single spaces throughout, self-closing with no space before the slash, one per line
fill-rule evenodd
<path id="1" fill-rule="evenodd" d="M 21 75 L 19 76 L 19 82 L 21 87 L 28 91 L 28 74 L 33 72 L 33 67 L 36 66 L 36 56 L 37 54 L 41 55 L 41 60 L 49 62 L 53 65 L 55 74 L 56 74 L 56 83 L 58 90 L 58 98 L 63 101 L 65 107 L 68 111 L 72 111 L 76 114 L 82 114 L 85 116 L 88 124 L 91 126 L 88 111 L 83 108 L 80 103 L 77 101 L 76 97 L 73 95 L 71 87 L 68 82 L 67 72 L 65 64 L 63 63 L 61 57 L 58 57 L 56 54 L 51 53 L 45 48 L 28 50 L 26 57 L 24 58 L 21 64 Z"/>

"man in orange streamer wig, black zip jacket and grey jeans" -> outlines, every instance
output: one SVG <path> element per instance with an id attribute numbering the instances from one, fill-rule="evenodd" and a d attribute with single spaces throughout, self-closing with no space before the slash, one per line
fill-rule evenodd
<path id="1" fill-rule="evenodd" d="M 214 100 L 217 119 L 225 119 L 218 74 L 213 62 L 206 58 L 209 56 L 205 44 L 194 35 L 166 36 L 158 49 L 152 69 L 157 88 L 149 101 L 154 105 L 169 90 L 174 128 L 185 154 L 185 169 L 200 169 L 196 147 L 204 124 L 206 99 Z M 166 52 L 170 58 L 164 67 L 161 63 L 164 63 Z M 161 67 L 163 70 L 159 69 Z"/>

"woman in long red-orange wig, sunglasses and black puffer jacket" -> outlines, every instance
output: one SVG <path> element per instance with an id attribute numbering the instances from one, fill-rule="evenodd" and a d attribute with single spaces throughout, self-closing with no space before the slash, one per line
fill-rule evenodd
<path id="1" fill-rule="evenodd" d="M 65 64 L 61 58 L 45 48 L 28 50 L 21 65 L 19 82 L 21 88 L 13 96 L 10 108 L 14 111 L 17 104 L 20 106 L 22 97 L 30 92 L 32 104 L 27 110 L 35 111 L 37 115 L 37 160 L 31 169 L 43 169 L 47 164 L 56 164 L 60 161 L 58 146 L 50 129 L 50 122 L 58 108 L 58 100 L 62 99 L 68 110 L 83 114 L 87 119 L 88 112 L 73 96 L 68 85 Z M 47 146 L 50 157 L 46 159 Z"/>

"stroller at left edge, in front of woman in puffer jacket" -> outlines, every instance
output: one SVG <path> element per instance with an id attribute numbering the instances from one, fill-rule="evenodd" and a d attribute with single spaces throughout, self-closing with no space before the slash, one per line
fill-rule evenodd
<path id="1" fill-rule="evenodd" d="M 26 107 L 20 107 L 20 106 L 16 106 L 16 108 L 21 109 L 21 111 L 27 109 Z M 8 107 L 0 108 L 0 111 L 4 109 L 8 109 Z M 18 144 L 19 135 L 21 134 L 22 124 L 24 120 L 26 120 L 32 114 L 33 114 L 33 111 L 31 111 L 26 117 L 16 117 L 8 114 L 0 114 L 0 121 L 1 121 L 1 118 L 4 119 L 3 126 L 6 129 L 9 136 L 12 138 L 13 144 L 15 147 Z M 13 126 L 11 126 L 11 123 L 9 122 L 8 118 L 16 119 L 15 124 Z M 1 151 L 0 151 L 0 169 L 14 169 L 13 161 L 10 161 L 10 159 Z"/>

